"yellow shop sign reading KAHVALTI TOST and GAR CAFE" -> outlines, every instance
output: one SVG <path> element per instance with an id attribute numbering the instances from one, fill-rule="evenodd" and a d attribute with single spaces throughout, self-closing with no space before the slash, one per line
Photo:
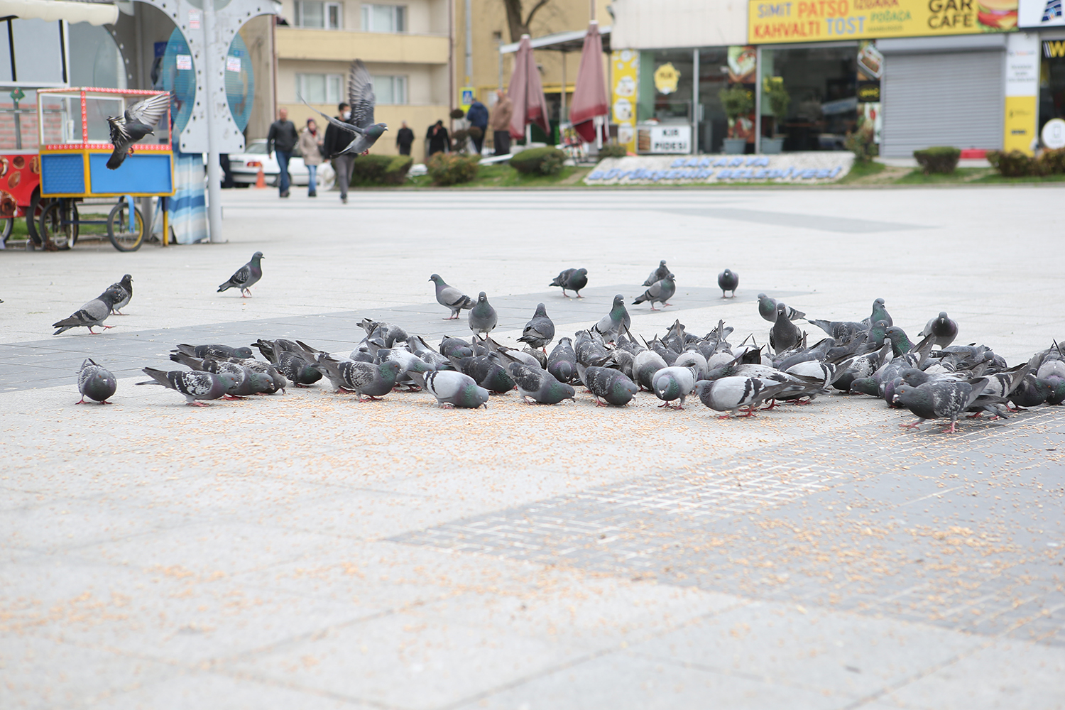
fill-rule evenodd
<path id="1" fill-rule="evenodd" d="M 1013 32 L 1017 0 L 748 0 L 747 22 L 752 45 Z"/>

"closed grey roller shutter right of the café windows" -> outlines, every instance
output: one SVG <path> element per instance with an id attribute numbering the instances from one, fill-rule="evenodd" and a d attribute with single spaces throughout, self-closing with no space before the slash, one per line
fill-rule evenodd
<path id="1" fill-rule="evenodd" d="M 891 54 L 884 63 L 881 154 L 929 146 L 1002 148 L 1001 51 Z"/>

